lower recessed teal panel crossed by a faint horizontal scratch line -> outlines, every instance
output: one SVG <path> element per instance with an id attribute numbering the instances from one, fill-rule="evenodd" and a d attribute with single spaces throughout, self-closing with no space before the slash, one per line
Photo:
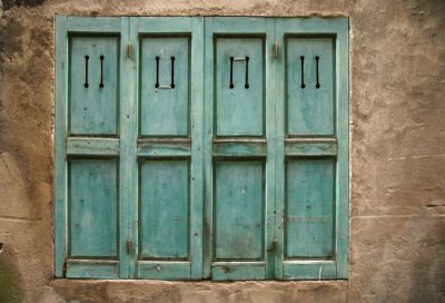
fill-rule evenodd
<path id="1" fill-rule="evenodd" d="M 333 255 L 334 183 L 334 159 L 286 163 L 285 257 Z"/>

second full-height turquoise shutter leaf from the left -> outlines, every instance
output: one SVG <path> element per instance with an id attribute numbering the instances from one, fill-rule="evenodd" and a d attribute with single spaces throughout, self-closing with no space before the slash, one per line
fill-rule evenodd
<path id="1" fill-rule="evenodd" d="M 202 19 L 139 18 L 138 278 L 201 277 Z"/>

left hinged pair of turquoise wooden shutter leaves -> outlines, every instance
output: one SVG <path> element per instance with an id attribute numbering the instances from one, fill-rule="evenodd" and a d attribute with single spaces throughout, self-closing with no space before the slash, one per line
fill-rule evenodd
<path id="1" fill-rule="evenodd" d="M 201 277 L 202 30 L 57 17 L 57 276 Z"/>

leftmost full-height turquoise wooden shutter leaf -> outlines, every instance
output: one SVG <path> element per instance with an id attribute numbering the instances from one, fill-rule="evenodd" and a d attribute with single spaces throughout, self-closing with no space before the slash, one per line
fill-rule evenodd
<path id="1" fill-rule="evenodd" d="M 56 275 L 127 277 L 119 189 L 126 20 L 58 17 L 57 26 Z"/>

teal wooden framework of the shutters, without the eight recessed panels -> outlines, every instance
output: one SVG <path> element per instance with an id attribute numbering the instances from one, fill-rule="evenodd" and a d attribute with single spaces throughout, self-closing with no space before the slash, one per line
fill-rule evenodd
<path id="1" fill-rule="evenodd" d="M 348 277 L 349 100 L 347 18 L 264 17 L 69 17 L 56 16 L 55 82 L 55 276 L 154 280 L 336 280 Z M 72 36 L 119 37 L 118 135 L 68 134 L 69 39 Z M 172 148 L 138 135 L 140 37 L 190 37 L 189 138 Z M 264 136 L 225 138 L 214 134 L 215 39 L 264 40 Z M 334 134 L 286 135 L 286 57 L 289 37 L 328 37 L 334 41 Z M 167 138 L 168 139 L 168 138 Z M 159 153 L 159 154 L 157 154 Z M 69 160 L 105 158 L 118 163 L 117 260 L 69 258 Z M 334 252 L 332 258 L 286 260 L 284 214 L 286 162 L 332 159 Z M 190 170 L 189 257 L 186 261 L 138 258 L 138 170 L 146 159 L 185 159 Z M 216 164 L 263 163 L 264 261 L 214 261 L 214 185 Z M 130 243 L 130 244 L 128 244 Z M 155 268 L 155 270 L 154 270 Z M 159 270 L 161 268 L 161 270 Z"/>

